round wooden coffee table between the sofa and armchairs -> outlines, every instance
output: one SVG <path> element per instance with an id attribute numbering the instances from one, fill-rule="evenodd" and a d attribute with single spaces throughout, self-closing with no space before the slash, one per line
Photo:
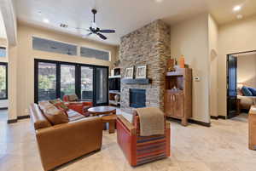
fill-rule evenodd
<path id="1" fill-rule="evenodd" d="M 90 107 L 88 111 L 92 116 L 102 116 L 103 128 L 106 128 L 106 123 L 108 123 L 108 133 L 109 134 L 114 133 L 115 121 L 116 121 L 115 107 L 112 107 L 112 106 Z"/>

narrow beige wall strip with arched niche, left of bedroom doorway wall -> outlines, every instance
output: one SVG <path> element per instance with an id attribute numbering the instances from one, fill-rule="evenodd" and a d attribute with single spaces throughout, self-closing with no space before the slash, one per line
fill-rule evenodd
<path id="1" fill-rule="evenodd" d="M 218 25 L 208 15 L 208 40 L 210 58 L 210 115 L 218 117 Z"/>

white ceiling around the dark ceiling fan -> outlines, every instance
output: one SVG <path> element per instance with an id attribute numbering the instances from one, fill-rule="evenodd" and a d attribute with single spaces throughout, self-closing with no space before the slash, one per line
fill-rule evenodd
<path id="1" fill-rule="evenodd" d="M 244 18 L 256 13 L 256 0 L 162 0 L 161 3 L 155 0 L 18 0 L 17 16 L 18 20 L 32 25 L 81 36 L 86 31 L 74 28 L 88 28 L 92 20 L 90 10 L 96 8 L 97 26 L 116 29 L 115 34 L 106 34 L 108 40 L 104 42 L 116 45 L 119 37 L 157 19 L 172 25 L 195 14 L 209 12 L 219 24 L 236 20 L 232 8 L 237 4 L 242 5 L 239 14 Z M 44 18 L 49 24 L 43 22 Z M 61 23 L 68 28 L 61 28 Z M 102 42 L 98 37 L 89 38 Z"/>

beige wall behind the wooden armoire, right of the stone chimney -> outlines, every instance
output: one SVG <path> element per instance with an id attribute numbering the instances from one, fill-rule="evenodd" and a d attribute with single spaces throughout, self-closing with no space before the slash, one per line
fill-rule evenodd
<path id="1" fill-rule="evenodd" d="M 209 50 L 208 14 L 201 14 L 171 27 L 171 53 L 185 56 L 193 69 L 193 119 L 210 123 L 209 117 Z M 200 82 L 195 82 L 200 77 Z"/>

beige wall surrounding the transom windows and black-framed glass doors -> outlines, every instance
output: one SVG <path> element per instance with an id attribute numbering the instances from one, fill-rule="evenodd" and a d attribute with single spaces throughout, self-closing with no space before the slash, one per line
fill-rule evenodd
<path id="1" fill-rule="evenodd" d="M 32 36 L 48 38 L 56 41 L 61 41 L 64 43 L 78 44 L 79 46 L 99 48 L 108 50 L 111 53 L 111 61 L 96 60 L 90 58 L 84 58 L 79 56 L 70 56 L 67 54 L 54 54 L 48 52 L 42 52 L 32 49 Z M 80 37 L 73 37 L 64 34 L 60 34 L 55 31 L 48 31 L 32 26 L 26 26 L 24 24 L 18 25 L 18 44 L 17 44 L 17 58 L 15 59 L 15 52 L 12 54 L 13 57 L 10 59 L 15 67 L 10 67 L 11 74 L 16 70 L 16 83 L 15 80 L 9 85 L 10 91 L 12 92 L 12 97 L 17 97 L 16 103 L 14 103 L 11 110 L 16 112 L 9 112 L 9 118 L 15 118 L 17 116 L 27 115 L 27 110 L 29 105 L 34 101 L 34 59 L 44 59 L 44 60 L 60 60 L 67 62 L 77 62 L 98 66 L 112 66 L 115 60 L 116 47 L 96 43 L 92 41 L 87 41 Z M 14 74 L 15 79 L 15 74 Z M 13 85 L 15 84 L 15 85 Z"/>

